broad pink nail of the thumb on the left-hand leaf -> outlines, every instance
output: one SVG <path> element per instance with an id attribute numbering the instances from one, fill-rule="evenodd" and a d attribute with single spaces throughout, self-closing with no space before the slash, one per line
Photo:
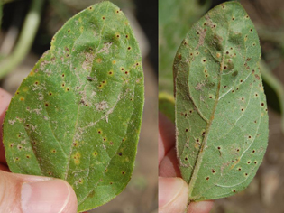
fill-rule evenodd
<path id="1" fill-rule="evenodd" d="M 25 182 L 22 187 L 23 213 L 60 213 L 69 201 L 70 189 L 65 181 Z"/>

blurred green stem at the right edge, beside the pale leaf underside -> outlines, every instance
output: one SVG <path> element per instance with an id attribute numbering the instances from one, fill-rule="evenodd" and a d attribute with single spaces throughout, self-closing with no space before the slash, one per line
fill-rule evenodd
<path id="1" fill-rule="evenodd" d="M 263 81 L 270 85 L 275 91 L 277 97 L 279 98 L 279 105 L 281 111 L 281 131 L 284 134 L 284 87 L 279 79 L 275 78 L 270 72 L 270 69 L 266 63 L 261 60 L 261 76 Z"/>

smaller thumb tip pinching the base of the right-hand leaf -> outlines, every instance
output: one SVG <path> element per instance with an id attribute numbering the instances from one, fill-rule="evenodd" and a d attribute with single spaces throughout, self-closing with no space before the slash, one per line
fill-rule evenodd
<path id="1" fill-rule="evenodd" d="M 184 213 L 188 204 L 188 184 L 181 178 L 159 178 L 159 213 Z"/>

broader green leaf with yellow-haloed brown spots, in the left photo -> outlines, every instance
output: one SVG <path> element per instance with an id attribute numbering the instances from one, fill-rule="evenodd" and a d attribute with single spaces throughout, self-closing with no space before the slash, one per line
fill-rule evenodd
<path id="1" fill-rule="evenodd" d="M 122 11 L 89 6 L 56 33 L 6 112 L 13 172 L 69 182 L 78 211 L 96 208 L 131 178 L 142 122 L 142 57 Z"/>

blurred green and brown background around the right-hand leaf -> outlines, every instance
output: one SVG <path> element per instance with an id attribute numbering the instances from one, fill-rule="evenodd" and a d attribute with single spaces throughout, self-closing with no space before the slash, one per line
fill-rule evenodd
<path id="1" fill-rule="evenodd" d="M 159 0 L 159 109 L 174 122 L 172 65 L 193 23 L 224 0 Z M 269 146 L 243 192 L 215 201 L 213 213 L 284 212 L 284 1 L 239 0 L 259 33 L 261 75 L 270 116 Z"/>

